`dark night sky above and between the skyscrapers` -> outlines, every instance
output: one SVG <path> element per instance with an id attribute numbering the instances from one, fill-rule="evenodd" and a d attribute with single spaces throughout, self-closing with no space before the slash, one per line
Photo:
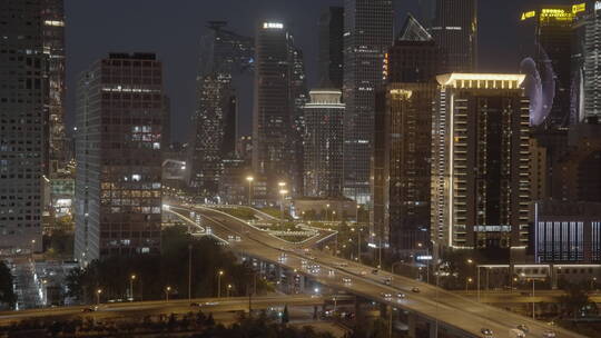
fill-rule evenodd
<path id="1" fill-rule="evenodd" d="M 262 18 L 282 18 L 305 53 L 309 87 L 317 80 L 317 20 L 327 6 L 342 0 L 66 0 L 67 121 L 75 121 L 77 74 L 111 51 L 156 52 L 164 62 L 166 92 L 171 98 L 175 141 L 185 141 L 195 107 L 195 77 L 200 37 L 209 20 L 253 36 Z M 395 0 L 397 29 L 407 11 L 417 12 L 417 0 Z M 524 33 L 519 16 L 539 3 L 559 0 L 480 0 L 479 68 L 489 72 L 519 70 Z M 239 89 L 250 93 L 250 88 Z M 240 131 L 250 130 L 249 107 L 240 110 Z"/>

